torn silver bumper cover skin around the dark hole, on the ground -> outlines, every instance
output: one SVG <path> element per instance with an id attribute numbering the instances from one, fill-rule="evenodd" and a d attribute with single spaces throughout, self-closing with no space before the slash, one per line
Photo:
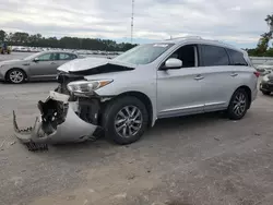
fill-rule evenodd
<path id="1" fill-rule="evenodd" d="M 92 138 L 97 125 L 87 123 L 79 118 L 79 116 L 75 113 L 75 111 L 79 109 L 76 102 L 67 102 L 67 106 L 68 108 L 64 116 L 64 121 L 58 124 L 56 129 L 52 129 L 50 133 L 44 129 L 46 122 L 43 120 L 43 114 L 36 118 L 33 128 L 20 130 L 17 126 L 15 112 L 13 111 L 13 126 L 15 136 L 24 144 L 63 144 L 70 142 L 83 142 Z"/>

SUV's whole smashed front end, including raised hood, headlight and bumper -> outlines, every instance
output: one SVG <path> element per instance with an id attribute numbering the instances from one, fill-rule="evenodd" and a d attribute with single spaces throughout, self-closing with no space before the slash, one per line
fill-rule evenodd
<path id="1" fill-rule="evenodd" d="M 95 91 L 112 83 L 104 73 L 130 72 L 134 68 L 104 59 L 86 58 L 70 61 L 58 68 L 58 87 L 46 101 L 38 101 L 40 117 L 32 128 L 21 130 L 13 112 L 15 136 L 29 150 L 45 149 L 48 144 L 76 143 L 95 140 L 100 133 L 102 113 L 110 97 Z M 96 75 L 96 80 L 85 76 Z M 94 136 L 95 135 L 95 136 Z"/>

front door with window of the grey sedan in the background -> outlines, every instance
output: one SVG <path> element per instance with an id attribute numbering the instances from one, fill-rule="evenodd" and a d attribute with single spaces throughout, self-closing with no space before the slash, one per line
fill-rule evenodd
<path id="1" fill-rule="evenodd" d="M 54 79 L 57 73 L 58 53 L 49 52 L 37 57 L 37 61 L 33 61 L 29 65 L 32 79 Z"/>

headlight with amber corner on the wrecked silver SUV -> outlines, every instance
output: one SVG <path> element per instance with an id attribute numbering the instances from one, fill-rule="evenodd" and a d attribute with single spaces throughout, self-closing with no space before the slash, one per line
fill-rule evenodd
<path id="1" fill-rule="evenodd" d="M 111 82 L 112 80 L 75 81 L 68 84 L 68 89 L 74 94 L 92 95 L 94 91 Z"/>

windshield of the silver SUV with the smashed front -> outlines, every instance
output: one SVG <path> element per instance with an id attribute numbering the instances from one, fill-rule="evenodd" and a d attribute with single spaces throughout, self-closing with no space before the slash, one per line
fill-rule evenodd
<path id="1" fill-rule="evenodd" d="M 162 53 L 174 45 L 175 44 L 159 43 L 136 46 L 116 57 L 114 60 L 132 64 L 147 64 L 156 60 Z"/>

